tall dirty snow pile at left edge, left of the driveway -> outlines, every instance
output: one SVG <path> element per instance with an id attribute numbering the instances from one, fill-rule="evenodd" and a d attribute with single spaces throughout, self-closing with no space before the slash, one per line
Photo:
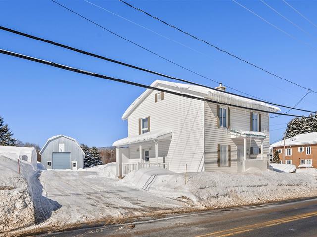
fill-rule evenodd
<path id="1" fill-rule="evenodd" d="M 20 164 L 22 175 L 26 175 L 29 169 L 33 170 L 31 165 L 23 161 Z M 35 170 L 30 175 L 34 173 Z M 0 233 L 30 226 L 35 222 L 26 178 L 19 175 L 15 158 L 0 155 Z"/>

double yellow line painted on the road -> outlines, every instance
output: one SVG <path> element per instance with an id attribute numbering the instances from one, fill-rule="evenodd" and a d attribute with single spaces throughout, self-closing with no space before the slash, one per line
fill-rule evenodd
<path id="1" fill-rule="evenodd" d="M 252 231 L 252 230 L 258 229 L 258 228 L 264 228 L 264 227 L 269 227 L 269 226 L 280 225 L 280 224 L 283 224 L 283 223 L 296 221 L 296 220 L 300 220 L 300 219 L 305 219 L 305 218 L 309 218 L 309 217 L 316 216 L 316 215 L 317 215 L 317 212 L 310 212 L 310 213 L 296 215 L 296 216 L 292 216 L 292 217 L 284 217 L 284 218 L 275 219 L 275 220 L 271 220 L 271 221 L 266 221 L 266 222 L 262 222 L 262 223 L 256 223 L 256 224 L 252 224 L 252 225 L 236 227 L 236 228 L 232 228 L 232 229 L 228 229 L 228 230 L 216 231 L 216 232 L 212 232 L 212 233 L 208 233 L 208 234 L 204 234 L 204 235 L 200 235 L 200 236 L 195 236 L 195 237 L 211 237 L 211 236 L 226 237 L 226 236 L 232 236 L 232 235 L 235 235 L 235 234 Z"/>

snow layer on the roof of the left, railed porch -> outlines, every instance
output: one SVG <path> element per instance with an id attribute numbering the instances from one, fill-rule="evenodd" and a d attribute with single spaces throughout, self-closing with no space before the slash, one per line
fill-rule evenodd
<path id="1" fill-rule="evenodd" d="M 112 146 L 119 147 L 125 146 L 133 143 L 146 142 L 151 140 L 159 140 L 171 136 L 172 132 L 167 130 L 151 131 L 141 135 L 130 136 L 123 139 L 120 139 L 113 143 Z"/>

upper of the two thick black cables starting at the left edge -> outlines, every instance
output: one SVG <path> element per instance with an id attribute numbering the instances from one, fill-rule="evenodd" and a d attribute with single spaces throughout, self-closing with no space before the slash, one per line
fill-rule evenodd
<path id="1" fill-rule="evenodd" d="M 135 66 L 135 65 L 131 65 L 131 64 L 127 64 L 127 63 L 124 63 L 124 62 L 121 62 L 121 61 L 117 61 L 117 60 L 114 60 L 114 59 L 111 59 L 111 58 L 106 58 L 106 57 L 98 55 L 98 54 L 94 54 L 94 53 L 87 52 L 87 51 L 84 51 L 84 50 L 81 50 L 81 49 L 78 49 L 78 48 L 70 47 L 70 46 L 67 46 L 67 45 L 64 45 L 64 44 L 61 44 L 61 43 L 57 43 L 57 42 L 54 42 L 54 41 L 51 41 L 51 40 L 46 40 L 46 39 L 43 39 L 43 38 L 40 38 L 40 37 L 37 37 L 37 36 L 29 35 L 29 34 L 26 34 L 26 33 L 20 32 L 20 31 L 16 31 L 16 30 L 13 30 L 13 29 L 10 29 L 10 28 L 7 28 L 7 27 L 0 26 L 0 30 L 8 31 L 8 32 L 11 32 L 11 33 L 14 33 L 14 34 L 17 34 L 17 35 L 21 35 L 21 36 L 24 36 L 24 37 L 28 37 L 28 38 L 31 38 L 31 39 L 34 39 L 34 40 L 39 40 L 39 41 L 42 41 L 42 42 L 53 44 L 55 46 L 66 48 L 66 49 L 69 49 L 69 50 L 72 50 L 72 51 L 75 51 L 75 52 L 78 52 L 78 53 L 81 53 L 81 54 L 84 54 L 84 55 L 92 56 L 92 57 L 95 57 L 95 58 L 99 58 L 99 59 L 102 59 L 102 60 L 106 60 L 106 61 L 109 61 L 109 62 L 113 62 L 113 63 L 119 64 L 119 65 L 127 66 L 127 67 L 130 67 L 130 68 L 133 68 L 133 69 L 137 69 L 137 70 L 141 70 L 141 71 L 148 72 L 148 73 L 151 73 L 151 74 L 159 75 L 161 77 L 165 77 L 165 78 L 169 78 L 169 79 L 174 79 L 174 80 L 186 82 L 186 83 L 189 83 L 189 84 L 192 84 L 192 85 L 202 86 L 202 87 L 205 87 L 205 88 L 208 88 L 208 89 L 211 89 L 211 90 L 219 91 L 221 93 L 226 93 L 226 94 L 230 94 L 230 95 L 234 95 L 234 96 L 239 96 L 239 97 L 242 97 L 242 98 L 251 99 L 251 100 L 255 100 L 255 101 L 259 101 L 259 102 L 269 103 L 269 104 L 272 104 L 272 105 L 285 107 L 285 108 L 289 108 L 289 109 L 295 109 L 295 110 L 300 110 L 300 111 L 304 111 L 304 112 L 315 113 L 315 111 L 297 109 L 297 108 L 289 107 L 289 106 L 286 106 L 286 105 L 276 104 L 276 103 L 269 102 L 269 101 L 258 100 L 258 99 L 246 97 L 246 96 L 243 96 L 243 95 L 234 94 L 234 93 L 231 93 L 231 92 L 228 92 L 228 91 L 218 90 L 218 89 L 215 89 L 215 88 L 212 88 L 212 87 L 209 87 L 209 86 L 205 86 L 205 85 L 202 85 L 202 84 L 198 84 L 198 83 L 191 82 L 191 81 L 188 81 L 188 80 L 176 78 L 176 77 L 169 76 L 169 75 L 166 75 L 166 74 L 162 74 L 162 73 L 159 73 L 159 72 L 155 72 L 155 71 L 152 71 L 152 70 L 149 70 L 149 69 L 144 69 L 144 68 L 141 68 L 141 67 L 138 67 L 138 66 Z"/>

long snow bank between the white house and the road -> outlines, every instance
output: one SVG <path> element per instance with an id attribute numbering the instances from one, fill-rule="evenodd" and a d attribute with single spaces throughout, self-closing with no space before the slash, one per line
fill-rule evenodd
<path id="1" fill-rule="evenodd" d="M 317 195 L 313 176 L 277 172 L 228 174 L 173 173 L 158 167 L 129 173 L 119 183 L 183 199 L 198 206 L 222 208 Z"/>

